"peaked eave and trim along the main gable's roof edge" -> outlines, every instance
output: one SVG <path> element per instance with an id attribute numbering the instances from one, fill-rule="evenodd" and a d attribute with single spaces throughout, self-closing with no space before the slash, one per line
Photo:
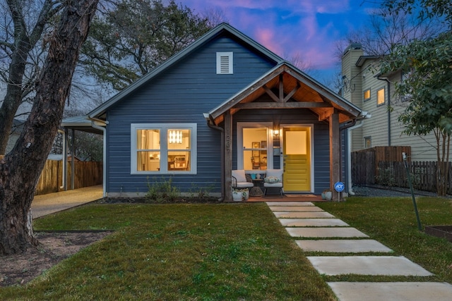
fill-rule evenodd
<path id="1" fill-rule="evenodd" d="M 143 85 L 145 85 L 146 82 L 153 79 L 156 75 L 159 75 L 167 68 L 173 66 L 175 63 L 181 61 L 184 59 L 184 57 L 188 56 L 189 54 L 196 51 L 196 49 L 199 49 L 204 44 L 210 42 L 211 40 L 224 36 L 224 35 L 230 35 L 234 37 L 235 39 L 239 39 L 239 41 L 242 41 L 244 44 L 248 45 L 261 55 L 265 56 L 270 61 L 273 61 L 274 63 L 280 63 L 284 61 L 280 58 L 280 56 L 274 54 L 272 51 L 266 49 L 266 47 L 263 47 L 261 44 L 258 44 L 253 39 L 247 37 L 242 32 L 239 32 L 239 30 L 236 30 L 234 27 L 227 23 L 221 23 L 217 27 L 213 28 L 209 32 L 206 33 L 206 35 L 203 35 L 201 38 L 197 39 L 195 42 L 190 44 L 188 47 L 182 49 L 182 51 L 179 51 L 177 54 L 174 54 L 171 58 L 169 58 L 164 63 L 160 64 L 156 68 L 154 68 L 152 71 L 144 75 L 143 77 L 136 80 L 136 82 L 133 82 L 133 84 L 129 85 L 129 87 L 126 87 L 124 90 L 121 90 L 118 94 L 114 95 L 114 97 L 110 98 L 105 102 L 104 104 L 101 104 L 96 109 L 88 113 L 88 118 L 102 118 L 105 119 L 105 111 L 109 109 L 110 106 L 116 104 L 121 99 L 124 99 L 129 94 L 133 93 Z"/>

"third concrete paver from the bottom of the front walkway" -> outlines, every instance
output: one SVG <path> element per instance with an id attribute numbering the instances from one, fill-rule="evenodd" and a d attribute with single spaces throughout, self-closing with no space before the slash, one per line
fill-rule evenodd
<path id="1" fill-rule="evenodd" d="M 376 240 L 295 240 L 305 252 L 392 252 Z"/>

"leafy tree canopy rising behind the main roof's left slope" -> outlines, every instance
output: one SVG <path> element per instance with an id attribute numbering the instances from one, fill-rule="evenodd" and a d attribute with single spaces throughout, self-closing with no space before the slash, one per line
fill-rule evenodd
<path id="1" fill-rule="evenodd" d="M 201 37 L 217 22 L 173 0 L 120 0 L 93 20 L 81 63 L 90 76 L 122 90 Z"/>

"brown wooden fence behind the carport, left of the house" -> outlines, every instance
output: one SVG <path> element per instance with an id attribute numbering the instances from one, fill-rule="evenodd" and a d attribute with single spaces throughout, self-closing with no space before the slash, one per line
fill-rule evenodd
<path id="1" fill-rule="evenodd" d="M 71 189 L 71 162 L 68 162 L 67 168 L 67 187 Z M 78 189 L 102 184 L 102 168 L 102 162 L 74 161 L 74 188 Z M 62 190 L 62 185 L 63 161 L 47 160 L 36 186 L 36 195 L 59 192 Z"/>

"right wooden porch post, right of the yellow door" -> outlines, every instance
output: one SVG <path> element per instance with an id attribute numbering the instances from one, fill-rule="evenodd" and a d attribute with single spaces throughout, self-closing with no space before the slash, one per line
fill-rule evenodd
<path id="1" fill-rule="evenodd" d="M 340 130 L 339 113 L 334 110 L 330 116 L 330 188 L 333 200 L 338 200 L 334 184 L 340 180 Z"/>

